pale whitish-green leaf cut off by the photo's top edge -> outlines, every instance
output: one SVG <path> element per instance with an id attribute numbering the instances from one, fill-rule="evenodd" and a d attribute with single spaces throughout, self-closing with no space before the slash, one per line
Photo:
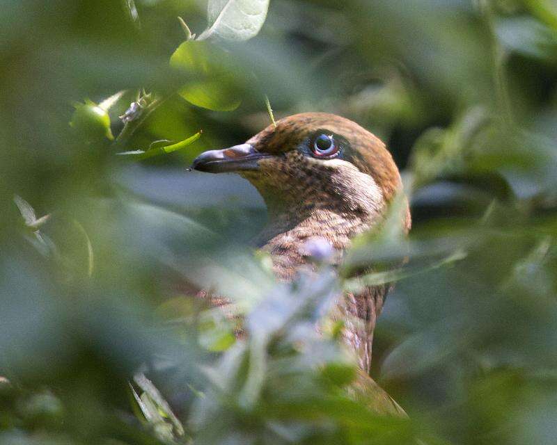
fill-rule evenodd
<path id="1" fill-rule="evenodd" d="M 249 40 L 259 33 L 268 9 L 269 0 L 209 0 L 210 26 L 198 40 Z"/>

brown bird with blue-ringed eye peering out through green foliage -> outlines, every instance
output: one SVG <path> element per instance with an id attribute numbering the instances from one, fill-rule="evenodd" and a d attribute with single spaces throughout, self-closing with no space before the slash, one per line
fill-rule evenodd
<path id="1" fill-rule="evenodd" d="M 276 277 L 287 282 L 308 266 L 308 243 L 329 243 L 338 252 L 334 263 L 340 263 L 354 237 L 382 223 L 389 204 L 403 193 L 400 172 L 382 140 L 330 113 L 290 115 L 243 144 L 201 153 L 191 168 L 235 172 L 257 189 L 268 218 L 255 243 L 270 254 Z M 397 224 L 407 234 L 406 198 L 403 207 Z M 341 299 L 347 318 L 343 339 L 363 374 L 370 371 L 373 331 L 389 289 L 368 286 Z"/>

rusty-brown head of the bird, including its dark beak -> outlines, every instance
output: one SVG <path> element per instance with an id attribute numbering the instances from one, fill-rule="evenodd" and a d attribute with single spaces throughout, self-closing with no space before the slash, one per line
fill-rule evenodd
<path id="1" fill-rule="evenodd" d="M 256 186 L 271 213 L 302 218 L 319 207 L 374 218 L 402 187 L 384 143 L 328 113 L 279 120 L 242 145 L 202 153 L 192 168 L 237 172 Z"/>

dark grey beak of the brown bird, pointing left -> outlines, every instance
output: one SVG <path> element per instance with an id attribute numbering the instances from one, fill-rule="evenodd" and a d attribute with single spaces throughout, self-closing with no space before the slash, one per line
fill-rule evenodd
<path id="1" fill-rule="evenodd" d="M 258 161 L 269 154 L 258 152 L 250 144 L 235 145 L 221 150 L 203 152 L 191 164 L 193 170 L 210 173 L 258 170 Z"/>

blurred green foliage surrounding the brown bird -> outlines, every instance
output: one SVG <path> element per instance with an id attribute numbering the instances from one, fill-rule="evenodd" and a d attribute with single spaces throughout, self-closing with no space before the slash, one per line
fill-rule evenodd
<path id="1" fill-rule="evenodd" d="M 255 1 L 250 40 L 189 35 L 225 3 L 0 0 L 0 443 L 556 443 L 557 3 Z M 348 261 L 409 258 L 372 364 L 409 419 L 258 304 L 331 282 L 274 282 L 255 189 L 186 170 L 266 127 L 266 97 L 359 122 L 403 172 L 409 239 Z M 191 284 L 281 347 L 235 341 Z"/>

